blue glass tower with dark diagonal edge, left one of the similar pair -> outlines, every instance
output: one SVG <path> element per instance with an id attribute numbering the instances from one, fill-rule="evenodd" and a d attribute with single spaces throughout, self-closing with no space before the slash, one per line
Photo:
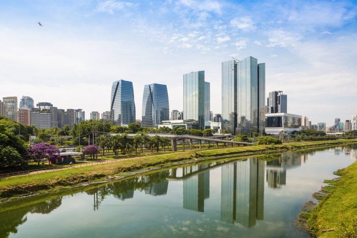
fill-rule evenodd
<path id="1" fill-rule="evenodd" d="M 135 102 L 133 83 L 118 80 L 112 84 L 110 103 L 111 120 L 115 125 L 135 122 Z"/>

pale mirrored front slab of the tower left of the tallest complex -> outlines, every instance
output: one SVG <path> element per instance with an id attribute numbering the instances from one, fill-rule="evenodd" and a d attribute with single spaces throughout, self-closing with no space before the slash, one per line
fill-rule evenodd
<path id="1" fill-rule="evenodd" d="M 184 74 L 184 120 L 205 128 L 205 71 Z"/>

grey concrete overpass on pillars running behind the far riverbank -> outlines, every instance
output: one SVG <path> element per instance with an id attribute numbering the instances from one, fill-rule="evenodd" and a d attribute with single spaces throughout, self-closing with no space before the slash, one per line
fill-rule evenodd
<path id="1" fill-rule="evenodd" d="M 115 135 L 121 135 L 121 134 L 107 134 L 109 136 L 115 136 Z M 135 137 L 138 134 L 126 134 L 128 137 Z M 185 141 L 189 140 L 190 142 L 190 147 L 192 149 L 192 141 L 198 141 L 199 143 L 199 148 L 201 149 L 201 143 L 202 141 L 207 141 L 207 142 L 215 142 L 216 143 L 216 147 L 218 148 L 218 143 L 224 143 L 224 145 L 227 144 L 231 144 L 231 146 L 233 147 L 233 145 L 256 145 L 253 143 L 248 143 L 248 142 L 238 142 L 238 141 L 230 141 L 230 140 L 222 140 L 219 139 L 217 137 L 198 137 L 198 136 L 191 136 L 191 135 L 174 135 L 174 134 L 145 134 L 148 137 L 155 137 L 155 136 L 159 136 L 161 138 L 165 138 L 168 140 L 171 140 L 171 148 L 172 151 L 177 151 L 177 141 L 182 141 L 183 143 L 183 149 L 185 151 Z M 222 135 L 220 137 L 227 137 L 227 135 Z"/>

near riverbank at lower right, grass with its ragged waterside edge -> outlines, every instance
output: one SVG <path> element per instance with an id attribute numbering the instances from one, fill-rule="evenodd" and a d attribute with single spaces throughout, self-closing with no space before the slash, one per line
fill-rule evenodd
<path id="1" fill-rule="evenodd" d="M 299 216 L 308 219 L 307 231 L 313 236 L 357 237 L 357 162 L 335 174 L 340 177 L 325 180 L 328 186 L 314 194 L 319 204 Z"/>

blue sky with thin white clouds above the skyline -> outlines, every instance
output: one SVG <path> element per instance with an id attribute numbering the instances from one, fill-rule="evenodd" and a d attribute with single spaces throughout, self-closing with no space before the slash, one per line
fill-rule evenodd
<path id="1" fill-rule="evenodd" d="M 0 2 L 0 99 L 23 95 L 61 109 L 110 110 L 111 85 L 166 84 L 183 110 L 183 74 L 205 70 L 221 113 L 221 62 L 266 64 L 266 95 L 313 124 L 357 114 L 356 1 Z M 36 23 L 40 21 L 44 27 Z"/>

